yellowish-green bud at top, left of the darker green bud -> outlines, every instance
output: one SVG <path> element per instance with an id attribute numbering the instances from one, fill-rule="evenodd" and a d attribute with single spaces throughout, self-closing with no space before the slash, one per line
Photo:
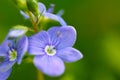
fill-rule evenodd
<path id="1" fill-rule="evenodd" d="M 26 11 L 27 10 L 27 6 L 26 6 L 26 0 L 13 0 L 13 2 L 15 3 L 15 5 L 22 11 Z"/>

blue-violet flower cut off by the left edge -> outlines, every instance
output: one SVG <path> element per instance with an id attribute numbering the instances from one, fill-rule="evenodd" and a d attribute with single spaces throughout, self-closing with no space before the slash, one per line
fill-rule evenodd
<path id="1" fill-rule="evenodd" d="M 26 36 L 10 40 L 8 38 L 9 36 L 0 45 L 0 80 L 6 80 L 9 77 L 12 66 L 16 62 L 21 63 L 28 47 L 28 38 Z"/>

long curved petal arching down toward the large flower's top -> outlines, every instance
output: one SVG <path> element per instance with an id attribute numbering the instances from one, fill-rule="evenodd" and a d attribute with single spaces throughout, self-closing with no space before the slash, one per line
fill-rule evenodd
<path id="1" fill-rule="evenodd" d="M 44 17 L 52 19 L 52 20 L 55 20 L 55 21 L 58 21 L 62 26 L 66 26 L 67 25 L 66 22 L 60 16 L 57 16 L 55 14 L 46 12 L 44 14 Z"/>

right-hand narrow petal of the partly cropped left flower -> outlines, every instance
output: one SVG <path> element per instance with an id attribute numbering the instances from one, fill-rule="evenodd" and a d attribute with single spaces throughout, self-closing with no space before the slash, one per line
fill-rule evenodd
<path id="1" fill-rule="evenodd" d="M 26 36 L 23 36 L 18 42 L 16 43 L 17 47 L 17 62 L 18 64 L 21 63 L 23 56 L 25 55 L 27 49 L 28 49 L 28 38 Z"/>

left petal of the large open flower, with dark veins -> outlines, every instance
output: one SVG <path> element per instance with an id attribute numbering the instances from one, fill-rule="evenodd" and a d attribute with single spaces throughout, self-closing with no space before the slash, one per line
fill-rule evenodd
<path id="1" fill-rule="evenodd" d="M 29 38 L 28 52 L 33 55 L 44 54 L 44 48 L 49 44 L 49 35 L 41 31 Z"/>

